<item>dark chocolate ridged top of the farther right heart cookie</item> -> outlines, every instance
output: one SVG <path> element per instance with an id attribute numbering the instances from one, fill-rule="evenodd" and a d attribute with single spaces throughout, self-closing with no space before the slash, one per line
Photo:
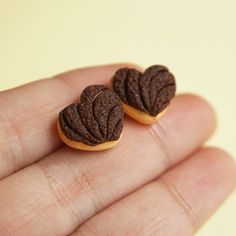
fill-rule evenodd
<path id="1" fill-rule="evenodd" d="M 174 76 L 160 65 L 151 66 L 144 73 L 121 68 L 115 73 L 112 83 L 113 90 L 124 103 L 151 116 L 163 111 L 176 91 Z"/>

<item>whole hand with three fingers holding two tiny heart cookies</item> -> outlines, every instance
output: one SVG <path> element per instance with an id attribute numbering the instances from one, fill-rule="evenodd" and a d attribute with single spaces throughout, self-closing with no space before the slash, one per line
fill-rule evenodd
<path id="1" fill-rule="evenodd" d="M 177 96 L 152 126 L 126 117 L 111 150 L 66 147 L 58 113 L 111 65 L 75 70 L 0 93 L 0 235 L 192 235 L 233 190 L 236 168 L 202 147 L 212 108 Z"/>

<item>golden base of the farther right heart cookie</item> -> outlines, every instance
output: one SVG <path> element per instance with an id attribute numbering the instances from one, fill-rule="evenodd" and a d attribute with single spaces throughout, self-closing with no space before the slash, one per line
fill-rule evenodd
<path id="1" fill-rule="evenodd" d="M 159 113 L 157 116 L 150 116 L 149 114 L 139 111 L 136 108 L 133 108 L 122 102 L 124 112 L 134 120 L 142 123 L 142 124 L 153 124 L 157 122 L 161 116 L 165 113 L 166 109 Z"/>

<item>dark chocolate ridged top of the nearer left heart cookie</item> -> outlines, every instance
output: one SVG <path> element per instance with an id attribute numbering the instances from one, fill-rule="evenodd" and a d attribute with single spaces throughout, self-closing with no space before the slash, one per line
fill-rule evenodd
<path id="1" fill-rule="evenodd" d="M 59 125 L 67 138 L 94 146 L 119 139 L 123 116 L 119 97 L 103 85 L 92 85 L 84 89 L 80 103 L 60 112 Z"/>

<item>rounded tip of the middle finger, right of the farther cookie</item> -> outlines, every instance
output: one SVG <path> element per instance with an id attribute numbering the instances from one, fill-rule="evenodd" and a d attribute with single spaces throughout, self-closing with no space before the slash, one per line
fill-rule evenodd
<path id="1" fill-rule="evenodd" d="M 193 94 L 176 96 L 166 113 L 152 126 L 177 160 L 187 157 L 211 137 L 216 128 L 213 108 Z M 178 154 L 178 155 L 176 155 Z"/>

